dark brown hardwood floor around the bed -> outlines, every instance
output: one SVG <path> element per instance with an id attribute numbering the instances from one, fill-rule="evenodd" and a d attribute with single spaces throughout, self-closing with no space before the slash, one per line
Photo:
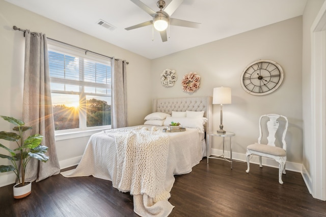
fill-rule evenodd
<path id="1" fill-rule="evenodd" d="M 170 216 L 326 216 L 326 202 L 312 198 L 300 173 L 203 159 L 193 172 L 176 175 Z M 0 216 L 138 216 L 132 196 L 112 182 L 55 175 L 33 182 L 32 194 L 14 199 L 12 185 L 0 188 Z"/>

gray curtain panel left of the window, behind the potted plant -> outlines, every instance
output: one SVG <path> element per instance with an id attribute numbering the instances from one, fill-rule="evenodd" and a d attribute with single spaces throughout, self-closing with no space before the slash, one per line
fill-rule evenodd
<path id="1" fill-rule="evenodd" d="M 26 167 L 25 181 L 40 181 L 59 174 L 55 127 L 50 90 L 47 40 L 45 34 L 25 32 L 25 68 L 23 92 L 23 121 L 33 127 L 31 135 L 41 134 L 47 146 L 48 162 L 31 159 Z"/>

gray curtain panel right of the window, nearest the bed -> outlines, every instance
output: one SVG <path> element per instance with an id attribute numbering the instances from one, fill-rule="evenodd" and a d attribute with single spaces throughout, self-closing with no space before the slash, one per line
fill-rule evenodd
<path id="1" fill-rule="evenodd" d="M 126 61 L 112 58 L 111 72 L 111 127 L 127 127 Z"/>

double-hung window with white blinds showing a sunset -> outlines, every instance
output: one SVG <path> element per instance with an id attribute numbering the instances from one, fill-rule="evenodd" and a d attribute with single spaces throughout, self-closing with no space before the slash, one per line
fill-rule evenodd
<path id="1" fill-rule="evenodd" d="M 111 128 L 111 66 L 97 55 L 49 45 L 56 135 Z"/>

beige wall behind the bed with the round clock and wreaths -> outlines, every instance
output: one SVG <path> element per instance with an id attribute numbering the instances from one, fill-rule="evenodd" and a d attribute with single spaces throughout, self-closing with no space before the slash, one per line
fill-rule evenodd
<path id="1" fill-rule="evenodd" d="M 258 59 L 281 65 L 284 81 L 266 96 L 252 96 L 240 85 L 242 70 Z M 174 69 L 176 85 L 160 85 L 160 73 Z M 152 60 L 153 98 L 212 96 L 218 86 L 232 88 L 232 104 L 223 109 L 224 129 L 233 131 L 233 151 L 244 154 L 248 144 L 257 142 L 258 119 L 262 114 L 278 113 L 288 117 L 287 160 L 302 163 L 302 16 L 264 26 L 233 37 L 187 49 Z M 200 88 L 193 94 L 181 89 L 182 76 L 191 71 L 201 76 Z M 213 130 L 220 124 L 220 106 L 213 106 Z M 216 139 L 213 148 L 222 149 Z M 243 156 L 242 156 L 243 157 Z"/>

